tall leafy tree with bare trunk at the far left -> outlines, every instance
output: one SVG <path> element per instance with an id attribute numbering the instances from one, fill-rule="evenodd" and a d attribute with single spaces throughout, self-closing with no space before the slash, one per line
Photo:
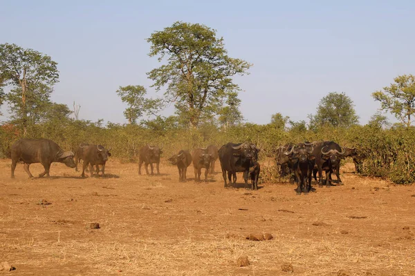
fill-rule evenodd
<path id="1" fill-rule="evenodd" d="M 16 44 L 0 44 L 0 79 L 12 91 L 19 93 L 19 117 L 24 136 L 28 127 L 28 94 L 35 96 L 35 90 L 44 90 L 57 83 L 57 63 L 48 55 Z M 14 102 L 13 104 L 17 104 Z"/>

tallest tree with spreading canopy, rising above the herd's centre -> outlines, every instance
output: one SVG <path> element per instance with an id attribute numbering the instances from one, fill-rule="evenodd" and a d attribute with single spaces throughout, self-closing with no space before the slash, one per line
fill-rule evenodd
<path id="1" fill-rule="evenodd" d="M 232 59 L 216 30 L 201 24 L 177 21 L 151 34 L 150 57 L 165 61 L 147 73 L 156 90 L 167 86 L 165 99 L 176 103 L 181 115 L 197 128 L 201 117 L 218 114 L 223 98 L 239 91 L 232 76 L 247 74 L 251 64 Z M 165 59 L 166 58 L 166 59 Z"/>

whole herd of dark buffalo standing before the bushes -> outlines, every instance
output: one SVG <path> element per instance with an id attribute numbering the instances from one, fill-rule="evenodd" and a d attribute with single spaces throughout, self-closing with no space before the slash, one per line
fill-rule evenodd
<path id="1" fill-rule="evenodd" d="M 16 141 L 11 148 L 12 157 L 12 175 L 15 177 L 15 168 L 17 163 L 24 164 L 24 170 L 30 178 L 29 166 L 33 163 L 40 163 L 44 166 L 44 172 L 39 177 L 49 176 L 50 164 L 60 162 L 66 164 L 70 168 L 75 168 L 77 164 L 83 160 L 82 177 L 85 177 L 85 170 L 89 166 L 91 176 L 93 168 L 97 175 L 101 166 L 102 175 L 105 173 L 105 164 L 111 156 L 111 148 L 105 148 L 97 144 L 80 144 L 75 150 L 75 154 L 71 151 L 64 151 L 59 146 L 48 139 L 20 139 Z M 148 166 L 151 168 L 151 175 L 154 175 L 154 166 L 156 164 L 157 174 L 160 174 L 160 155 L 163 148 L 158 146 L 150 146 L 147 144 L 140 149 L 138 161 L 138 174 L 141 175 L 141 166 L 144 163 L 147 175 L 149 175 Z M 225 188 L 228 184 L 235 184 L 237 181 L 237 172 L 243 172 L 243 180 L 245 188 L 251 188 L 248 179 L 252 181 L 252 189 L 257 190 L 258 179 L 261 166 L 258 163 L 258 155 L 260 149 L 256 144 L 228 143 L 221 148 L 214 145 L 206 148 L 196 148 L 190 153 L 189 150 L 180 150 L 168 160 L 171 164 L 178 168 L 178 180 L 186 181 L 187 167 L 193 164 L 194 180 L 201 181 L 202 168 L 205 169 L 204 180 L 208 181 L 208 173 L 214 173 L 214 164 L 219 158 L 221 171 Z M 361 172 L 362 160 L 365 155 L 358 152 L 356 148 L 346 148 L 336 144 L 333 141 L 314 141 L 299 144 L 286 144 L 279 146 L 275 151 L 275 160 L 279 166 L 279 174 L 282 176 L 291 175 L 297 183 L 297 194 L 308 193 L 312 190 L 311 180 L 315 179 L 319 186 L 323 183 L 327 187 L 331 186 L 332 173 L 335 174 L 338 184 L 342 185 L 340 179 L 340 161 L 345 157 L 352 157 L 355 163 L 356 171 Z M 325 181 L 323 177 L 325 172 Z M 317 180 L 317 173 L 319 179 Z"/>

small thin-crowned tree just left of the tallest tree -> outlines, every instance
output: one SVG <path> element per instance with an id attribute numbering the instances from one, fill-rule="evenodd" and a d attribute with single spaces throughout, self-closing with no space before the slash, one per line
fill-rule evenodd
<path id="1" fill-rule="evenodd" d="M 116 93 L 128 105 L 124 110 L 128 124 L 136 124 L 137 119 L 144 114 L 154 115 L 160 107 L 159 100 L 144 97 L 147 93 L 144 86 L 120 86 Z"/>

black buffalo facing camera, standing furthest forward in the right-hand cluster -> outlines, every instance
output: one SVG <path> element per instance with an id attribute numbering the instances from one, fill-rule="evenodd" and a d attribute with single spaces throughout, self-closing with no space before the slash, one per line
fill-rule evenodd
<path id="1" fill-rule="evenodd" d="M 313 145 L 298 144 L 293 146 L 290 151 L 284 152 L 284 155 L 290 158 L 293 163 L 293 170 L 297 181 L 297 194 L 308 193 L 311 190 L 311 177 L 315 165 L 315 157 L 311 155 Z"/>

